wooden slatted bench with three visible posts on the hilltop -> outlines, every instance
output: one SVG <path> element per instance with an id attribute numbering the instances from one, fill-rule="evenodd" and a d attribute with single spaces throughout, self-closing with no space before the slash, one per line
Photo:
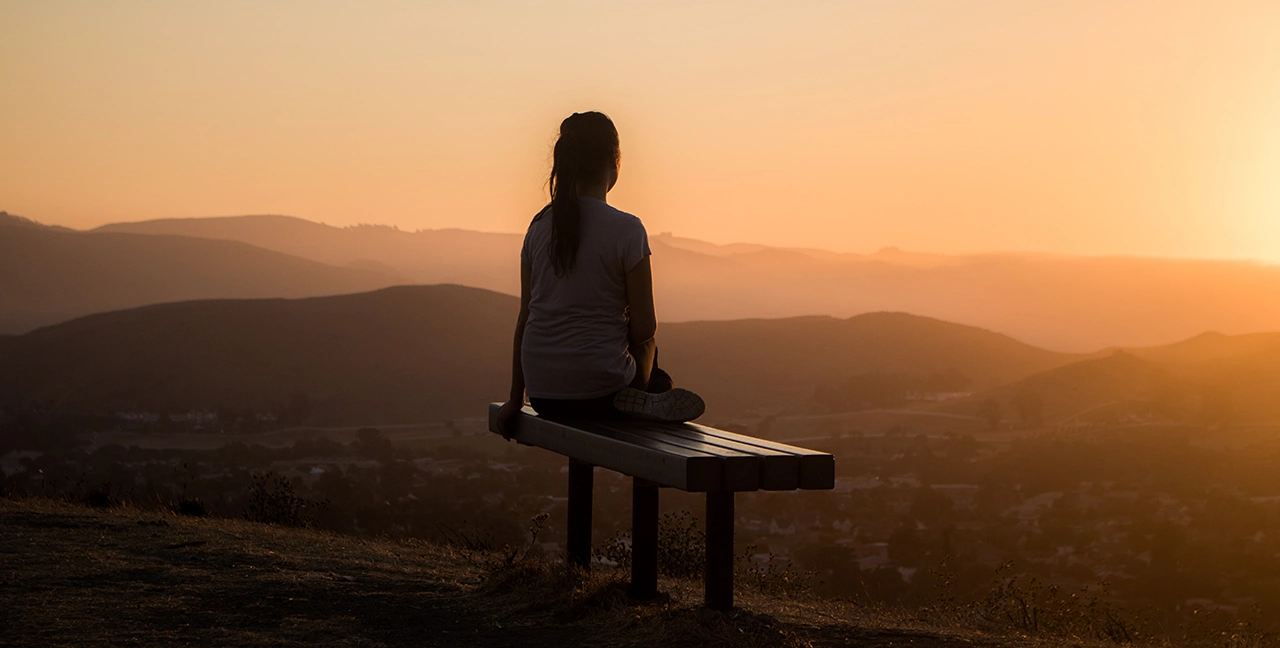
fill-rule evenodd
<path id="1" fill-rule="evenodd" d="M 489 406 L 489 430 L 502 403 Z M 550 420 L 531 407 L 516 417 L 513 439 L 568 457 L 568 562 L 591 560 L 595 466 L 632 478 L 631 595 L 658 593 L 658 488 L 707 493 L 705 602 L 733 607 L 733 493 L 831 489 L 836 460 L 817 452 L 694 423 Z"/>

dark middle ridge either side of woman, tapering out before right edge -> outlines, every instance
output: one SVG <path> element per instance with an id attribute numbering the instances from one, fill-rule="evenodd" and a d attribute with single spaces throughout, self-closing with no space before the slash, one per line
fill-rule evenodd
<path id="1" fill-rule="evenodd" d="M 460 286 L 105 312 L 0 343 L 0 394 L 113 410 L 280 412 L 314 423 L 481 416 L 507 393 L 515 297 Z M 659 328 L 660 362 L 709 415 L 776 410 L 869 370 L 1023 378 L 1078 356 L 905 314 Z"/>

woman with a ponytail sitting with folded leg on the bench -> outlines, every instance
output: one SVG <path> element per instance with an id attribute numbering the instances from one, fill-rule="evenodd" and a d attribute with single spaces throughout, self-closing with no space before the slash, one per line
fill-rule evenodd
<path id="1" fill-rule="evenodd" d="M 520 252 L 520 319 L 508 423 L 529 394 L 541 416 L 635 416 L 687 421 L 698 394 L 658 369 L 649 236 L 605 201 L 618 179 L 618 131 L 603 113 L 561 122 L 550 204 L 529 224 Z"/>

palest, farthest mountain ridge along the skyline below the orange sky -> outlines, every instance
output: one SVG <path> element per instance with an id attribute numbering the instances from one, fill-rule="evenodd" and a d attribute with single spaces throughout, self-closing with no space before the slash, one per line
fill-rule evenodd
<path id="1" fill-rule="evenodd" d="M 287 216 L 101 231 L 224 238 L 334 265 L 376 263 L 421 283 L 518 292 L 520 234 L 335 228 Z M 650 234 L 664 321 L 902 311 L 1082 352 L 1164 344 L 1204 330 L 1280 330 L 1280 266 L 1252 261 L 896 248 L 854 255 Z"/>

